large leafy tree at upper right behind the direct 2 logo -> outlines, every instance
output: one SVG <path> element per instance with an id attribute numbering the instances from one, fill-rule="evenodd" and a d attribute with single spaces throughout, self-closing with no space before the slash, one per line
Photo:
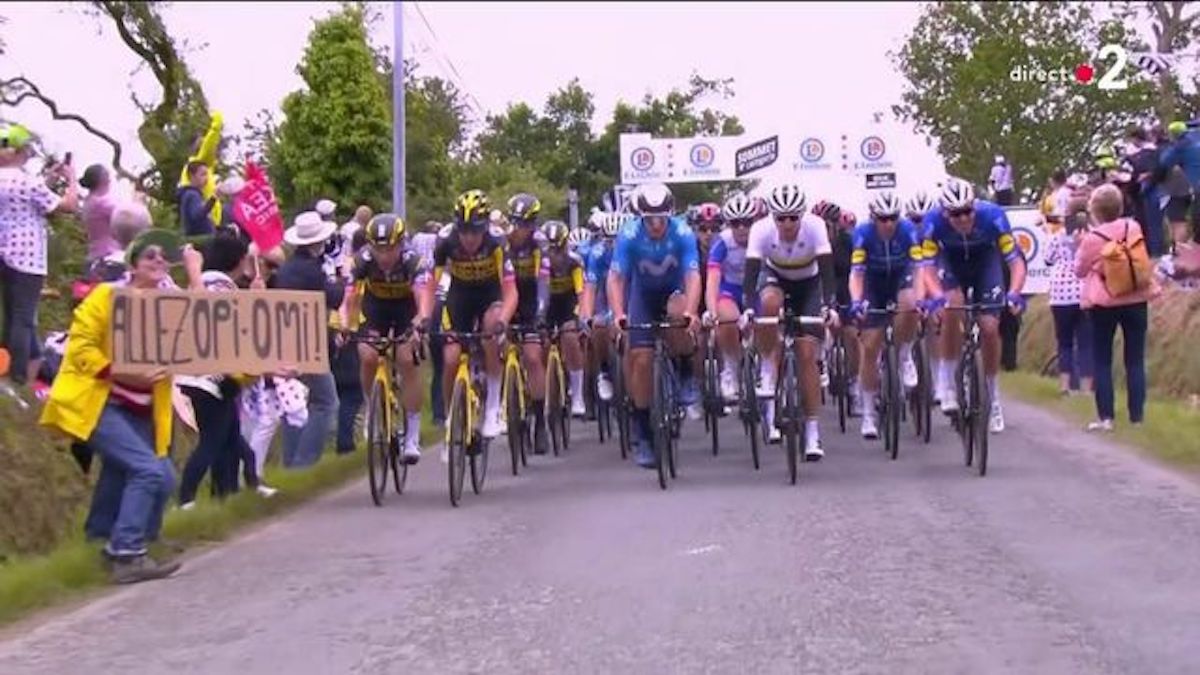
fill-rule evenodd
<path id="1" fill-rule="evenodd" d="M 1126 24 L 1097 20 L 1086 4 L 931 4 L 890 54 L 907 80 L 893 113 L 937 142 L 954 175 L 982 181 L 1001 154 L 1027 185 L 1040 186 L 1151 114 L 1142 73 L 1127 71 L 1123 91 L 1073 80 L 1075 66 L 1110 42 L 1140 47 Z M 1068 79 L 1014 80 L 1018 68 Z"/>

